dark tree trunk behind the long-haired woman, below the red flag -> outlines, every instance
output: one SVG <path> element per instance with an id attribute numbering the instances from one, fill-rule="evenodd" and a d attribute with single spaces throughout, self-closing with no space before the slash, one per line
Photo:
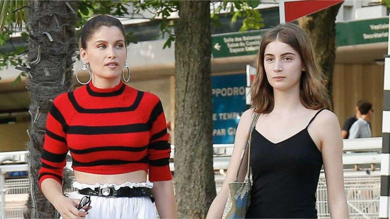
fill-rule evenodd
<path id="1" fill-rule="evenodd" d="M 330 101 L 333 105 L 332 78 L 335 65 L 335 39 L 336 28 L 335 20 L 341 4 L 333 5 L 327 9 L 321 10 L 298 19 L 298 24 L 310 36 L 314 51 L 316 52 L 316 61 L 323 69 L 326 88 Z"/>

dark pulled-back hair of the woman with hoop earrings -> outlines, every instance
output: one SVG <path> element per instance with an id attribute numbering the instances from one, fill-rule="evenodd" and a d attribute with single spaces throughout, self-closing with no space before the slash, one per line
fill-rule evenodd
<path id="1" fill-rule="evenodd" d="M 84 49 L 87 49 L 87 41 L 89 41 L 89 39 L 92 37 L 92 35 L 94 35 L 96 33 L 97 30 L 99 30 L 99 28 L 101 26 L 116 26 L 117 28 L 119 28 L 119 30 L 121 30 L 122 34 L 123 34 L 123 37 L 124 37 L 124 41 L 125 41 L 125 47 L 126 47 L 126 34 L 124 32 L 124 27 L 121 23 L 121 21 L 119 21 L 119 19 L 117 18 L 114 18 L 112 16 L 109 16 L 109 15 L 98 15 L 98 16 L 95 16 L 91 19 L 89 19 L 87 22 L 85 22 L 82 30 L 81 30 L 81 35 L 80 35 L 80 41 L 79 41 L 79 47 L 80 48 L 84 48 Z"/>

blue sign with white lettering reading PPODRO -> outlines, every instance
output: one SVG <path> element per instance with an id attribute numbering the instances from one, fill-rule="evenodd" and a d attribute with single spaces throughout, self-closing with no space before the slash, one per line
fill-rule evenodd
<path id="1" fill-rule="evenodd" d="M 245 102 L 245 74 L 213 76 L 213 143 L 232 144 Z"/>

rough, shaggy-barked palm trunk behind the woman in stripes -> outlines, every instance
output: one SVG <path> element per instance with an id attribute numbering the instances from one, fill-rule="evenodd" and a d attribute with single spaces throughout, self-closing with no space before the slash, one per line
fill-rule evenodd
<path id="1" fill-rule="evenodd" d="M 39 190 L 38 170 L 41 167 L 46 117 L 51 101 L 58 94 L 67 92 L 72 84 L 72 57 L 78 48 L 74 29 L 77 5 L 76 1 L 29 2 L 27 63 L 30 65 L 30 76 L 27 89 L 32 99 L 29 107 L 31 125 L 27 130 L 30 137 L 27 143 L 30 194 L 25 218 L 59 217 Z"/>

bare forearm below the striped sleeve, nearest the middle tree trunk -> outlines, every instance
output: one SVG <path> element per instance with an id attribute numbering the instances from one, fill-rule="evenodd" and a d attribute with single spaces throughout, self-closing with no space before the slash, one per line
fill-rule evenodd
<path id="1" fill-rule="evenodd" d="M 176 200 L 173 192 L 173 182 L 153 182 L 153 196 L 156 200 L 156 207 L 160 218 L 177 218 Z"/>

